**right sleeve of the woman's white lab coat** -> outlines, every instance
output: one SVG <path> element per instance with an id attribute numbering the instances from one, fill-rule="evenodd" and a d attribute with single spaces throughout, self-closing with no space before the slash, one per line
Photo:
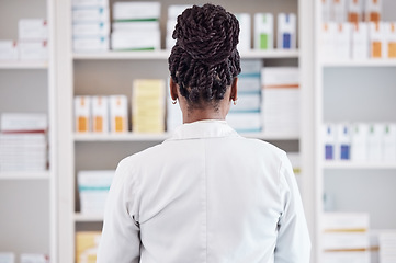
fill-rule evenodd
<path id="1" fill-rule="evenodd" d="M 284 155 L 280 168 L 280 193 L 283 213 L 274 253 L 275 263 L 308 263 L 310 240 L 297 182 Z"/>

